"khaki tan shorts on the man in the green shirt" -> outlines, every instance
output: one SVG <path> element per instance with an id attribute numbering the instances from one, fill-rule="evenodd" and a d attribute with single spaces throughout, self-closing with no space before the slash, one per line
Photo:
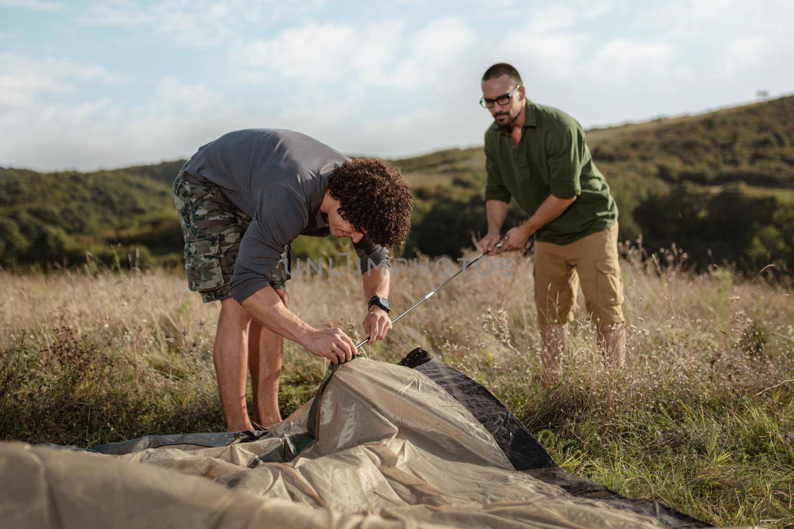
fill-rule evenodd
<path id="1" fill-rule="evenodd" d="M 618 224 L 570 244 L 535 243 L 535 303 L 542 323 L 573 320 L 579 282 L 596 324 L 623 321 Z"/>

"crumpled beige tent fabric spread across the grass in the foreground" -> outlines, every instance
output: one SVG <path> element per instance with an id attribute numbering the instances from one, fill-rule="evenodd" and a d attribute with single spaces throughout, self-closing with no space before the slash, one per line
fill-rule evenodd
<path id="1" fill-rule="evenodd" d="M 661 527 L 513 470 L 488 431 L 434 381 L 367 358 L 333 375 L 314 445 L 291 462 L 247 468 L 305 431 L 308 406 L 266 438 L 222 448 L 113 456 L 0 443 L 0 520 L 65 528 Z"/>

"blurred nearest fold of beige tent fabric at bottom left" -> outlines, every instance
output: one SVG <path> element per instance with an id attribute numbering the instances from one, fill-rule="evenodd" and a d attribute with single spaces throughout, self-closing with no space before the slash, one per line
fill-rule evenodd
<path id="1" fill-rule="evenodd" d="M 407 527 L 341 516 L 287 500 L 262 500 L 206 478 L 114 456 L 0 443 L 0 520 L 20 529 L 353 529 Z M 431 525 L 423 527 L 433 527 Z"/>

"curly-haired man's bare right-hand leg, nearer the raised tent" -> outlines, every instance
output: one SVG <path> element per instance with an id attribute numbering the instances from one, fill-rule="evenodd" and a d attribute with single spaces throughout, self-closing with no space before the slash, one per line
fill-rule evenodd
<path id="1" fill-rule="evenodd" d="M 284 306 L 287 291 L 276 289 Z M 281 422 L 279 412 L 279 376 L 284 340 L 280 335 L 255 321 L 249 333 L 249 370 L 253 393 L 253 422 L 261 427 Z"/>

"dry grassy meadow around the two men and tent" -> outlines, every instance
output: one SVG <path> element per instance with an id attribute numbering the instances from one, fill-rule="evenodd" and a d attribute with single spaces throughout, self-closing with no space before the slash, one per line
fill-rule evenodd
<path id="1" fill-rule="evenodd" d="M 480 381 L 555 461 L 626 496 L 716 524 L 794 524 L 794 300 L 790 286 L 715 267 L 692 274 L 623 249 L 629 361 L 603 365 L 573 324 L 554 385 L 540 356 L 531 259 L 514 274 L 468 270 L 366 354 L 395 362 L 421 345 Z M 449 266 L 440 266 L 449 270 Z M 445 276 L 396 271 L 401 311 Z M 289 283 L 291 309 L 363 337 L 353 272 Z M 0 438 L 89 446 L 221 430 L 211 347 L 218 304 L 165 270 L 0 272 Z M 285 348 L 282 412 L 309 398 L 324 363 Z"/>

